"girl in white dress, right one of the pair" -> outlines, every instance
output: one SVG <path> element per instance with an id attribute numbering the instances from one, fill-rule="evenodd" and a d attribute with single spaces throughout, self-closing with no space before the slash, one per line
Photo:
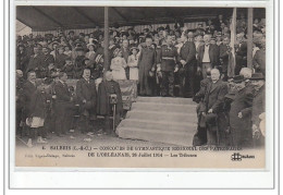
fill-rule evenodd
<path id="1" fill-rule="evenodd" d="M 132 47 L 131 49 L 132 54 L 127 58 L 127 66 L 130 66 L 130 80 L 138 81 L 138 48 Z"/>

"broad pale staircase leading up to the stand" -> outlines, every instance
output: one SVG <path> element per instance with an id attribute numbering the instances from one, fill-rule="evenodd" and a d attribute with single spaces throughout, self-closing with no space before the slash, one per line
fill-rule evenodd
<path id="1" fill-rule="evenodd" d="M 116 133 L 121 138 L 192 146 L 196 129 L 196 103 L 192 99 L 138 97 Z"/>

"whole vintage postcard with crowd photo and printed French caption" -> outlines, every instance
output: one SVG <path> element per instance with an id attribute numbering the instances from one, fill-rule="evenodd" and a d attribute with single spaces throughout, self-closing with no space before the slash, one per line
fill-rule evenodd
<path id="1" fill-rule="evenodd" d="M 12 3 L 14 167 L 269 169 L 272 9 L 123 4 Z"/>

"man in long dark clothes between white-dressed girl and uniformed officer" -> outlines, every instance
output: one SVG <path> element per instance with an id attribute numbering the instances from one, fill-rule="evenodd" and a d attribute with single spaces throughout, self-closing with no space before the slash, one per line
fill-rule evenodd
<path id="1" fill-rule="evenodd" d="M 152 81 L 150 80 L 149 72 L 156 71 L 156 50 L 151 47 L 152 38 L 146 37 L 146 47 L 142 49 L 138 59 L 138 80 L 139 80 L 139 95 L 152 95 Z"/>

